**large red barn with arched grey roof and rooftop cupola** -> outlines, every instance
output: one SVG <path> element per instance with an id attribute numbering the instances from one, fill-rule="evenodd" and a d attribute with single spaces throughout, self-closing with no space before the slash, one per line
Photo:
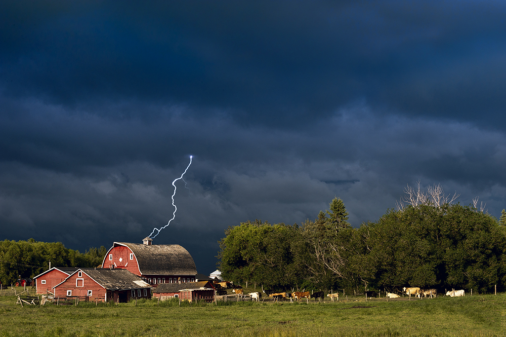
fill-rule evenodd
<path id="1" fill-rule="evenodd" d="M 195 281 L 197 268 L 190 253 L 179 245 L 152 245 L 115 242 L 105 255 L 102 268 L 121 268 L 156 286 L 160 283 Z"/>

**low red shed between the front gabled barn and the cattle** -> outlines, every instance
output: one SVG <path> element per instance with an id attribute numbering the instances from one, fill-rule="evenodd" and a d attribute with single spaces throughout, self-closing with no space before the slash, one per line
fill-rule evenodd
<path id="1" fill-rule="evenodd" d="M 213 283 L 209 281 L 187 282 L 187 283 L 165 283 L 159 284 L 153 291 L 153 297 L 161 301 L 179 297 L 185 300 L 205 300 L 213 302 L 215 296 Z"/>

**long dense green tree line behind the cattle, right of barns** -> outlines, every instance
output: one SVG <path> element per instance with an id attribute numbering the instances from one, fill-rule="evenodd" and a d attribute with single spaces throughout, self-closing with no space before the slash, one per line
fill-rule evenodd
<path id="1" fill-rule="evenodd" d="M 314 221 L 260 220 L 229 227 L 220 241 L 222 276 L 273 288 L 399 290 L 404 286 L 505 290 L 506 212 L 425 202 L 388 210 L 353 228 L 341 199 Z"/>

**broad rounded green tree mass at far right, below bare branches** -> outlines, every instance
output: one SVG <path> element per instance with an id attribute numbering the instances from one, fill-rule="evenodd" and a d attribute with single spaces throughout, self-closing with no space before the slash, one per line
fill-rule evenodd
<path id="1" fill-rule="evenodd" d="M 464 287 L 491 291 L 503 283 L 504 228 L 488 214 L 456 205 L 389 210 L 369 233 L 365 263 L 377 287 Z M 366 267 L 364 267 L 366 268 Z"/>

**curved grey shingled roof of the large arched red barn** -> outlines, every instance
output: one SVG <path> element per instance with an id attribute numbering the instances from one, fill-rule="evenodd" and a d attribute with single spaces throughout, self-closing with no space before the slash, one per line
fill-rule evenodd
<path id="1" fill-rule="evenodd" d="M 143 275 L 196 275 L 190 253 L 179 245 L 143 245 L 115 242 L 132 250 Z"/>

